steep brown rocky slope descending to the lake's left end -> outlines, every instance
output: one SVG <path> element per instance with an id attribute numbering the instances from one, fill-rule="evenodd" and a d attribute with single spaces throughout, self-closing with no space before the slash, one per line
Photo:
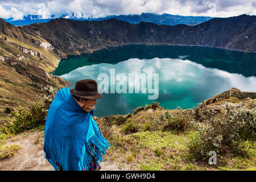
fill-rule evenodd
<path id="1" fill-rule="evenodd" d="M 45 85 L 67 86 L 67 81 L 49 74 L 61 55 L 47 40 L 0 19 L 0 109 L 26 106 Z"/>

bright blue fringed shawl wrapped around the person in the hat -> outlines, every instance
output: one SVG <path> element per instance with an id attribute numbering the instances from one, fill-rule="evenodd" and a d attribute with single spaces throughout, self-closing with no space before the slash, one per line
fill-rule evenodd
<path id="1" fill-rule="evenodd" d="M 88 170 L 92 159 L 102 162 L 109 142 L 93 119 L 93 109 L 86 113 L 69 89 L 60 89 L 49 107 L 44 126 L 44 155 L 57 170 Z"/>

